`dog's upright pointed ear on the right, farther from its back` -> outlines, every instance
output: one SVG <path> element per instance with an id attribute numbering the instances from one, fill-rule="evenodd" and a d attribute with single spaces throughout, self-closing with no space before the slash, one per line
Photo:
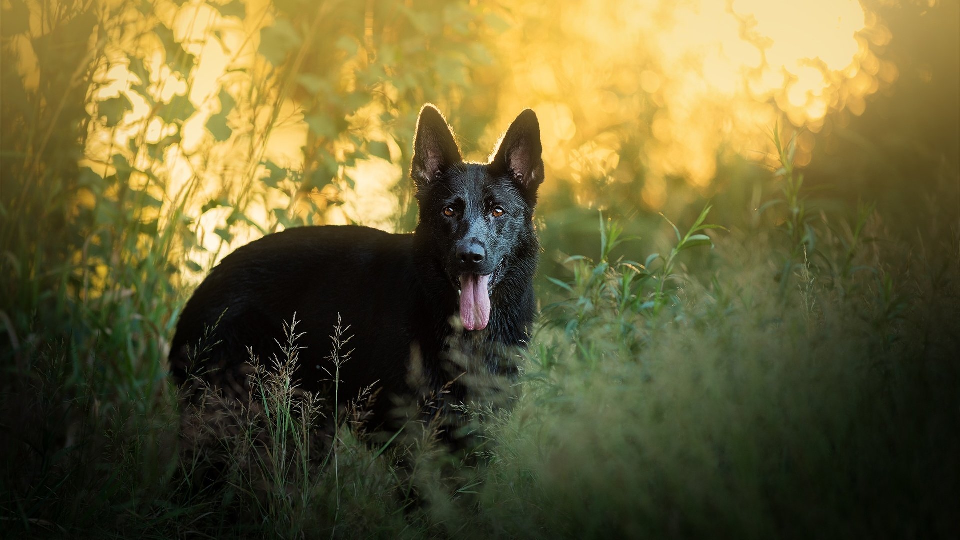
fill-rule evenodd
<path id="1" fill-rule="evenodd" d="M 543 182 L 542 153 L 537 113 L 527 109 L 520 112 L 507 135 L 503 135 L 491 163 L 506 170 L 524 193 L 536 195 Z"/>

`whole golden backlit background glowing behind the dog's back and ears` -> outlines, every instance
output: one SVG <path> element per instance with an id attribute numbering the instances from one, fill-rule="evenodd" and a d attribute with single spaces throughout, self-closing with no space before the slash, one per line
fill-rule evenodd
<path id="1" fill-rule="evenodd" d="M 901 69 L 884 56 L 891 30 L 856 0 L 96 6 L 112 23 L 90 38 L 102 56 L 81 164 L 107 177 L 122 157 L 161 219 L 195 219 L 201 268 L 290 225 L 410 230 L 424 101 L 473 160 L 532 108 L 546 198 L 656 213 L 674 191 L 709 196 L 734 162 L 770 162 L 776 126 L 799 132 L 807 165 Z M 49 26 L 34 13 L 12 37 L 28 89 L 28 36 Z"/>

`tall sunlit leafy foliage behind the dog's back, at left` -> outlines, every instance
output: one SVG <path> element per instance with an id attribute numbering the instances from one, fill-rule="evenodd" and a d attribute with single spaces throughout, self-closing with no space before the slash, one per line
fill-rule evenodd
<path id="1" fill-rule="evenodd" d="M 420 104 L 444 103 L 490 61 L 469 37 L 492 15 L 445 2 L 11 6 L 6 334 L 14 351 L 36 331 L 98 343 L 130 384 L 155 389 L 181 272 L 204 271 L 238 229 L 323 223 L 358 158 L 405 168 Z M 219 22 L 196 32 L 204 17 Z M 267 145 L 291 113 L 309 126 L 296 170 Z M 200 222 L 218 211 L 222 241 L 204 243 Z"/>

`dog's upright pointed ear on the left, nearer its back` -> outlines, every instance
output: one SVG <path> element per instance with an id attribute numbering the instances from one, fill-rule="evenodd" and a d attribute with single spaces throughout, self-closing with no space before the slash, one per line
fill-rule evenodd
<path id="1" fill-rule="evenodd" d="M 410 177 L 420 189 L 437 180 L 448 166 L 460 161 L 460 148 L 444 115 L 429 103 L 424 105 L 417 120 Z"/>

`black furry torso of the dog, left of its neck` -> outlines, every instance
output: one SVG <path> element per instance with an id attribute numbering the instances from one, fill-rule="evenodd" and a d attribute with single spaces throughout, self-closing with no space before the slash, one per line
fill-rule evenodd
<path id="1" fill-rule="evenodd" d="M 409 351 L 412 311 L 420 283 L 412 260 L 412 236 L 366 227 L 303 227 L 276 233 L 230 254 L 197 288 L 180 315 L 171 347 L 171 367 L 181 384 L 192 359 L 225 370 L 248 361 L 248 347 L 258 355 L 278 354 L 283 325 L 296 314 L 302 355 L 300 382 L 318 390 L 326 378 L 324 356 L 338 314 L 363 356 L 384 358 L 386 372 L 402 380 Z M 204 332 L 210 331 L 204 336 Z M 208 349 L 201 351 L 188 347 Z M 266 360 L 266 357 L 261 358 Z M 361 362 L 356 362 L 361 363 Z M 389 369 L 398 366 L 396 370 Z M 352 366 L 345 366 L 350 369 Z M 323 372 L 310 376 L 309 370 Z M 368 366 L 369 369 L 369 366 Z M 348 381 L 356 378 L 344 378 Z"/>

